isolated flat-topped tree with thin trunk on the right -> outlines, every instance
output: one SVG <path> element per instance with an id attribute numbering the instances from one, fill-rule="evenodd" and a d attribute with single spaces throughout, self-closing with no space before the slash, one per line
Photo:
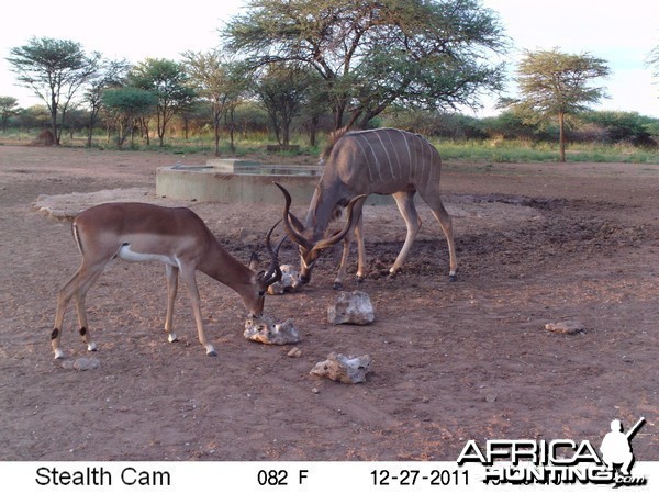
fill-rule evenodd
<path id="1" fill-rule="evenodd" d="M 516 81 L 521 98 L 502 100 L 528 123 L 558 119 L 560 162 L 566 161 L 566 117 L 587 110 L 605 96 L 604 89 L 592 87 L 594 79 L 606 77 L 605 60 L 588 53 L 570 55 L 551 50 L 525 52 L 517 67 Z"/>

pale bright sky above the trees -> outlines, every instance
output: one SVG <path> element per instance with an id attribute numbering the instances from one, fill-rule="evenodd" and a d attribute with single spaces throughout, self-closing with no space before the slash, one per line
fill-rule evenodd
<path id="1" fill-rule="evenodd" d="M 15 86 L 7 57 L 10 49 L 31 37 L 70 40 L 86 52 L 132 63 L 145 58 L 179 58 L 186 50 L 205 52 L 219 44 L 217 30 L 241 13 L 243 0 L 185 0 L 163 3 L 135 0 L 30 0 L 2 8 L 0 29 L 0 96 L 19 99 L 19 104 L 40 104 L 32 93 Z M 512 76 L 523 50 L 559 48 L 563 53 L 602 58 L 611 76 L 599 81 L 610 96 L 595 110 L 633 111 L 659 117 L 659 80 L 645 66 L 650 50 L 659 45 L 657 0 L 482 0 L 496 12 L 513 48 L 504 57 Z M 99 8 L 99 5 L 103 5 Z M 515 96 L 509 83 L 506 96 Z M 495 97 L 482 100 L 477 116 L 498 113 Z"/>

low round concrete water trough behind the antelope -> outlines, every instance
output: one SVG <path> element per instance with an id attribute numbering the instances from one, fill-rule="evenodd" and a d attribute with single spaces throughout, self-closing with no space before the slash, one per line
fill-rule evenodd
<path id="1" fill-rule="evenodd" d="M 273 181 L 291 193 L 295 203 L 309 204 L 323 173 L 320 165 L 269 165 L 243 159 L 209 159 L 206 165 L 174 165 L 156 172 L 156 193 L 164 198 L 222 203 L 281 204 Z M 367 204 L 393 202 L 371 195 Z"/>

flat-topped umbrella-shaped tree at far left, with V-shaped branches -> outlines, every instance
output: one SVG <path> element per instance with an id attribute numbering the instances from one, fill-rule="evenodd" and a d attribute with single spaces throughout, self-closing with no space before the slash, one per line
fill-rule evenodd
<path id="1" fill-rule="evenodd" d="M 19 85 L 32 89 L 51 112 L 51 130 L 59 145 L 66 112 L 76 92 L 92 79 L 101 55 L 86 55 L 80 43 L 33 37 L 26 45 L 10 49 L 7 58 Z"/>

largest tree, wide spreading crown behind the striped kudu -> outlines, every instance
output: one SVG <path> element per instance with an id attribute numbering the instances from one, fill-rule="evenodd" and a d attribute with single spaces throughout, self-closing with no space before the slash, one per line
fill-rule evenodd
<path id="1" fill-rule="evenodd" d="M 478 0 L 252 0 L 227 23 L 228 49 L 255 66 L 299 63 L 325 81 L 336 128 L 365 127 L 398 102 L 477 105 L 500 90 L 506 41 Z"/>

